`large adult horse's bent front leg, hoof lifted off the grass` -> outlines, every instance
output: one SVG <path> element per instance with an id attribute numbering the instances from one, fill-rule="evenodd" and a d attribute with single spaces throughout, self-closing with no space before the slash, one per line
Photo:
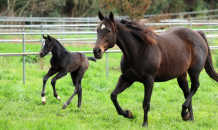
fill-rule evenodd
<path id="1" fill-rule="evenodd" d="M 117 95 L 121 92 L 123 92 L 126 88 L 131 86 L 133 82 L 128 81 L 123 75 L 120 76 L 118 83 L 116 85 L 116 88 L 114 91 L 111 93 L 111 100 L 114 103 L 114 106 L 117 109 L 117 113 L 119 115 L 123 115 L 124 117 L 127 118 L 133 118 L 132 112 L 130 110 L 123 110 L 120 105 L 117 102 Z"/>

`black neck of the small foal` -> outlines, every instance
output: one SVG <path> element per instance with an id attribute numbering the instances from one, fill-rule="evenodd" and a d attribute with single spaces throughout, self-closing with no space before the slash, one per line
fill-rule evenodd
<path id="1" fill-rule="evenodd" d="M 54 58 L 60 59 L 63 58 L 61 56 L 65 51 L 66 49 L 62 48 L 58 43 L 55 42 L 55 46 L 53 46 L 51 53 Z"/>

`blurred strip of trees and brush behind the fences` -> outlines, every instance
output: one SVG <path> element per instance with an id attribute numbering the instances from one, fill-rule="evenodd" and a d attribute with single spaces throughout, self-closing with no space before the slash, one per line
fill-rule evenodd
<path id="1" fill-rule="evenodd" d="M 0 0 L 0 3 L 0 15 L 9 17 L 93 17 L 99 10 L 140 17 L 218 9 L 218 0 Z"/>

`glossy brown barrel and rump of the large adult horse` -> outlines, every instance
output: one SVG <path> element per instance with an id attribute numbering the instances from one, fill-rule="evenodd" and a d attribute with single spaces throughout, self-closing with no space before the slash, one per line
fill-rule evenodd
<path id="1" fill-rule="evenodd" d="M 172 27 L 158 35 L 162 61 L 156 81 L 177 78 L 189 69 L 202 70 L 207 57 L 207 45 L 195 31 L 185 27 Z"/>

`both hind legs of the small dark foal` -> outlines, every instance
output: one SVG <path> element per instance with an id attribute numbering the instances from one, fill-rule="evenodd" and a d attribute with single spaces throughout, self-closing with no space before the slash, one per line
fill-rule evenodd
<path id="1" fill-rule="evenodd" d="M 81 107 L 81 102 L 82 102 L 82 87 L 81 87 L 81 82 L 82 82 L 82 77 L 85 73 L 85 70 L 83 68 L 79 68 L 78 70 L 71 72 L 71 78 L 73 80 L 73 84 L 75 86 L 75 90 L 73 92 L 73 95 L 67 100 L 67 102 L 63 105 L 62 109 L 65 109 L 73 99 L 73 97 L 78 94 L 78 107 Z"/>

